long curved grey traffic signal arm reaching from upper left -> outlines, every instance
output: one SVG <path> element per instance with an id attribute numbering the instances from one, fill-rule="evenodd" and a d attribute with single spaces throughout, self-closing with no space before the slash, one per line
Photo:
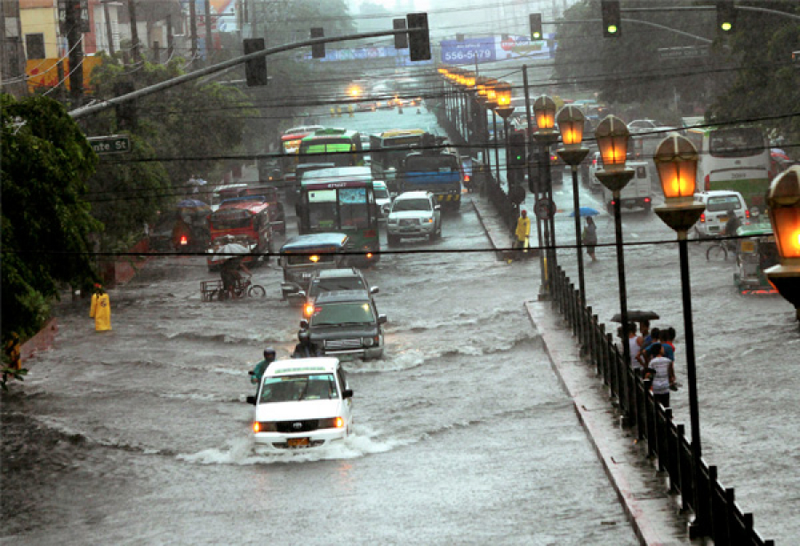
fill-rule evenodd
<path id="1" fill-rule="evenodd" d="M 133 91 L 131 93 L 127 93 L 119 97 L 114 97 L 113 99 L 102 100 L 96 104 L 75 108 L 69 111 L 69 115 L 73 119 L 80 119 L 82 117 L 86 117 L 87 115 L 97 114 L 98 112 L 102 112 L 103 110 L 108 110 L 108 108 L 115 107 L 116 105 L 123 104 L 130 100 L 147 97 L 148 95 L 152 95 L 154 93 L 170 89 L 172 87 L 175 87 L 176 85 L 180 85 L 181 83 L 192 82 L 198 78 L 203 77 L 204 75 L 216 74 L 221 70 L 225 70 L 230 67 L 236 67 L 236 65 L 241 65 L 248 60 L 259 59 L 260 57 L 267 57 L 268 55 L 274 55 L 276 53 L 281 53 L 283 51 L 292 51 L 300 49 L 301 47 L 309 47 L 315 44 L 332 44 L 336 42 L 348 42 L 350 40 L 361 40 L 363 38 L 375 38 L 379 36 L 395 36 L 398 34 L 409 33 L 415 30 L 427 31 L 428 29 L 407 28 L 403 30 L 380 30 L 376 32 L 363 32 L 359 34 L 350 34 L 347 36 L 331 36 L 331 37 L 325 36 L 323 38 L 313 38 L 310 40 L 304 40 L 302 42 L 295 42 L 293 44 L 278 45 L 276 47 L 270 47 L 268 49 L 261 51 L 253 51 L 252 53 L 243 55 L 242 57 L 236 57 L 235 59 L 228 59 L 223 62 L 212 65 L 211 67 L 200 68 L 199 70 L 196 70 L 190 74 L 179 75 L 164 82 L 156 83 L 155 85 L 150 85 L 148 87 L 144 87 L 140 90 Z"/>

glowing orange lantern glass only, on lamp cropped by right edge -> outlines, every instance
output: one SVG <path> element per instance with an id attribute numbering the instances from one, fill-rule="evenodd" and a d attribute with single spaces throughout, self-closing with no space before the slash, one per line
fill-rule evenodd
<path id="1" fill-rule="evenodd" d="M 780 263 L 800 265 L 800 165 L 789 167 L 772 180 L 767 205 Z"/>

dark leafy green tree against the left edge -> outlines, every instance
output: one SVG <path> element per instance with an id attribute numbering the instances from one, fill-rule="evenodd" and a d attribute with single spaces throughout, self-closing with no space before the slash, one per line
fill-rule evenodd
<path id="1" fill-rule="evenodd" d="M 87 237 L 102 226 L 84 201 L 97 156 L 57 101 L 2 95 L 4 341 L 35 333 L 61 282 L 95 278 Z"/>

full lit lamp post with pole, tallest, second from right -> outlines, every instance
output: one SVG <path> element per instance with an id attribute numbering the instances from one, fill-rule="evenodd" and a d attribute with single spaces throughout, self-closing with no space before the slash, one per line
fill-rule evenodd
<path id="1" fill-rule="evenodd" d="M 689 380 L 689 413 L 692 421 L 692 471 L 694 474 L 694 520 L 690 526 L 692 536 L 708 534 L 706 503 L 698 493 L 700 484 L 700 411 L 697 400 L 697 373 L 694 361 L 694 328 L 692 326 L 692 289 L 689 281 L 689 229 L 700 219 L 705 205 L 694 202 L 697 150 L 688 138 L 672 134 L 656 148 L 653 161 L 659 171 L 664 204 L 655 213 L 677 233 L 681 261 L 681 289 L 684 305 L 684 330 L 686 336 L 686 375 Z"/>

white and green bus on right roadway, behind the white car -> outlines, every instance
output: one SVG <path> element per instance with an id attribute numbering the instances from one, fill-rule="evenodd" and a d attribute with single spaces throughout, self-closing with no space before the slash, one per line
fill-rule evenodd
<path id="1" fill-rule="evenodd" d="M 748 207 L 764 211 L 770 185 L 770 148 L 757 127 L 688 129 L 697 148 L 697 191 L 739 192 Z"/>

